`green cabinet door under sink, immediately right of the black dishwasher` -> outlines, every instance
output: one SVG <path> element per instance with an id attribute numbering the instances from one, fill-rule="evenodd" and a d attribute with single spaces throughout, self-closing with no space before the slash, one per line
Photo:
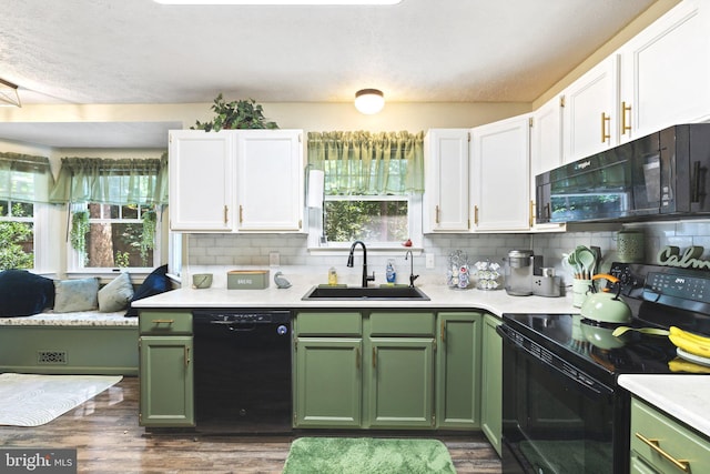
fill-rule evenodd
<path id="1" fill-rule="evenodd" d="M 362 339 L 298 337 L 294 425 L 359 427 Z"/>

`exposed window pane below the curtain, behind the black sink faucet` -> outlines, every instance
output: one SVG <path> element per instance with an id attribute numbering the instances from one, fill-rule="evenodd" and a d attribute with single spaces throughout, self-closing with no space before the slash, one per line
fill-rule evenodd
<path id="1" fill-rule="evenodd" d="M 326 201 L 329 242 L 404 242 L 409 238 L 406 201 Z"/>

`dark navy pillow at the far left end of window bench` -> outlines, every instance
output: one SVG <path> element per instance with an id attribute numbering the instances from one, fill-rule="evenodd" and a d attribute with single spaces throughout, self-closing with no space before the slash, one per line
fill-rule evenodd
<path id="1" fill-rule="evenodd" d="M 30 316 L 53 305 L 53 280 L 27 270 L 0 272 L 0 316 Z"/>

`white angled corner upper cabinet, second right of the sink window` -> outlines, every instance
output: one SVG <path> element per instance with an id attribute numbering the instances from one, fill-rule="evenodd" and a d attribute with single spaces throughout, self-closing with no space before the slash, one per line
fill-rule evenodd
<path id="1" fill-rule="evenodd" d="M 471 130 L 473 230 L 530 229 L 530 115 Z"/>

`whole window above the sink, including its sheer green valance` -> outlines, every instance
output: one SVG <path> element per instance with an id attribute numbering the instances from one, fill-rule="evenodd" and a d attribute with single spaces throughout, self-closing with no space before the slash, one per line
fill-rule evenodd
<path id="1" fill-rule="evenodd" d="M 308 133 L 308 164 L 323 171 L 310 248 L 420 245 L 424 133 Z M 311 183 L 308 184 L 311 185 Z"/>

